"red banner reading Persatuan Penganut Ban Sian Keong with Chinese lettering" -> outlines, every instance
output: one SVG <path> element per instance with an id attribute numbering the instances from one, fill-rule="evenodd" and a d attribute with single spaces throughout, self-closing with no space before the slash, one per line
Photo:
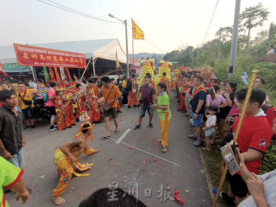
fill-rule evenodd
<path id="1" fill-rule="evenodd" d="M 13 44 L 18 65 L 86 67 L 85 54 Z"/>

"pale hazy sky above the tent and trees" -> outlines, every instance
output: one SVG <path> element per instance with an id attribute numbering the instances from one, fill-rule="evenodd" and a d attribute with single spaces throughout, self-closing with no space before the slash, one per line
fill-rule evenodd
<path id="1" fill-rule="evenodd" d="M 54 4 L 47 0 L 42 0 Z M 146 40 L 134 40 L 134 53 L 165 53 L 180 45 L 197 46 L 202 44 L 207 31 L 216 0 L 193 1 L 91 1 L 91 0 L 51 0 L 91 16 L 118 22 L 108 16 L 113 14 L 131 25 L 131 17 L 143 30 Z M 140 3 L 138 3 L 140 2 Z M 260 0 L 241 0 L 242 12 L 245 7 L 255 6 Z M 270 22 L 276 22 L 274 1 L 262 1 L 271 12 L 268 21 L 262 28 L 265 30 Z M 56 4 L 54 4 L 56 5 Z M 58 6 L 58 5 L 56 5 Z M 125 26 L 111 22 L 103 22 L 70 13 L 65 10 L 42 3 L 38 0 L 5 0 L 1 1 L 1 38 L 0 46 L 18 44 L 35 44 L 48 42 L 94 40 L 119 38 L 125 50 Z M 60 7 L 60 6 L 59 6 Z M 215 38 L 220 26 L 232 26 L 235 0 L 220 0 L 211 28 L 205 41 Z M 258 32 L 252 31 L 254 37 Z M 128 28 L 128 48 L 132 53 L 132 30 Z M 162 51 L 164 50 L 164 51 Z"/>

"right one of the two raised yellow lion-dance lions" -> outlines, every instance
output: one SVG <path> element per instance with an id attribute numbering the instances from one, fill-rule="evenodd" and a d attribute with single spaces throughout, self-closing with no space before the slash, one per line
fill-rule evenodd
<path id="1" fill-rule="evenodd" d="M 170 67 L 173 65 L 173 63 L 168 62 L 168 60 L 161 60 L 160 61 L 160 67 L 159 67 L 159 72 L 157 76 L 155 76 L 155 91 L 157 91 L 157 84 L 160 82 L 164 82 L 167 85 L 167 90 L 166 93 L 169 95 L 169 90 L 170 90 Z"/>

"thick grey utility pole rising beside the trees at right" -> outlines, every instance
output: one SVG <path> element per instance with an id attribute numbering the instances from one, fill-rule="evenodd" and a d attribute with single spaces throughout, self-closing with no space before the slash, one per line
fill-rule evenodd
<path id="1" fill-rule="evenodd" d="M 241 7 L 241 0 L 236 0 L 232 44 L 231 44 L 230 61 L 229 61 L 229 69 L 228 69 L 228 78 L 229 79 L 234 77 L 234 72 L 235 72 L 235 61 L 236 61 L 236 52 L 237 52 L 237 44 L 238 44 L 238 21 L 239 21 L 239 16 L 240 16 L 240 7 Z"/>

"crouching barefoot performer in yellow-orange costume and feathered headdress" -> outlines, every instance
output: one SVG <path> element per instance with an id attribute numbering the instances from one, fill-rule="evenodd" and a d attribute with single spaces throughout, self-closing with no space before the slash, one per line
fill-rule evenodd
<path id="1" fill-rule="evenodd" d="M 93 137 L 91 136 L 93 125 L 85 111 L 81 112 L 80 120 L 83 121 L 83 123 L 79 127 L 78 134 L 76 134 L 72 141 L 61 144 L 58 147 L 59 149 L 55 150 L 54 164 L 60 176 L 58 185 L 55 190 L 53 190 L 52 195 L 52 200 L 56 205 L 62 205 L 65 202 L 65 199 L 61 198 L 60 195 L 66 190 L 73 174 L 75 176 L 89 176 L 89 173 L 79 174 L 73 170 L 73 166 L 80 171 L 89 171 L 91 169 L 90 166 L 93 164 L 79 163 L 82 153 L 91 155 L 100 150 L 98 148 L 93 150 L 86 143 L 87 138 L 93 142 Z"/>

